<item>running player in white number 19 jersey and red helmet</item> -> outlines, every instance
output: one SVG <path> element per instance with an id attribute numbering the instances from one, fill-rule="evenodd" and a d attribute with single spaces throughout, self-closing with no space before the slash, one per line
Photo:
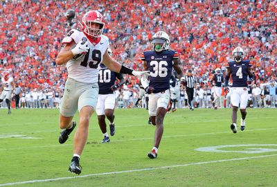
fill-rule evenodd
<path id="1" fill-rule="evenodd" d="M 64 48 L 57 55 L 58 65 L 66 64 L 68 79 L 60 106 L 60 128 L 63 130 L 59 142 L 64 143 L 76 126 L 72 121 L 79 111 L 79 126 L 75 132 L 73 159 L 69 171 L 81 173 L 80 155 L 87 141 L 89 119 L 96 109 L 98 98 L 98 71 L 102 62 L 117 73 L 141 76 L 148 71 L 134 71 L 111 59 L 107 53 L 109 39 L 102 35 L 104 19 L 100 12 L 90 10 L 82 17 L 82 32 L 72 29 L 62 40 Z"/>

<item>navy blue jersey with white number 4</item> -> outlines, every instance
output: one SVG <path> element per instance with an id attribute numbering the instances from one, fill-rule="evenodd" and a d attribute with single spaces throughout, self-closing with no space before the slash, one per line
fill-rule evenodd
<path id="1" fill-rule="evenodd" d="M 247 87 L 248 67 L 251 66 L 249 60 L 242 62 L 228 62 L 226 68 L 230 68 L 233 79 L 232 87 Z"/>

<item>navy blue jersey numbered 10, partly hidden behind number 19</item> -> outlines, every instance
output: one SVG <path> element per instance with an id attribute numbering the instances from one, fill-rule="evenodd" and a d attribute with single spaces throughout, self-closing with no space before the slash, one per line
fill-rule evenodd
<path id="1" fill-rule="evenodd" d="M 100 64 L 98 74 L 99 94 L 113 94 L 114 91 L 111 90 L 111 86 L 116 82 L 116 78 L 120 80 L 123 75 L 107 69 L 104 64 Z"/>

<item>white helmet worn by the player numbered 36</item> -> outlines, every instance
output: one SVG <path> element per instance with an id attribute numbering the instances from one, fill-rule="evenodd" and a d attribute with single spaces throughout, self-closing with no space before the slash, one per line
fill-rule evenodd
<path id="1" fill-rule="evenodd" d="M 170 45 L 170 39 L 166 32 L 159 31 L 152 37 L 152 45 L 154 51 L 161 52 L 167 50 Z"/>

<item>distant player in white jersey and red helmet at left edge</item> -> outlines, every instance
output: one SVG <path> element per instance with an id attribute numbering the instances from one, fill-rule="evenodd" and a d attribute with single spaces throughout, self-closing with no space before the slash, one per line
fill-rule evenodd
<path id="1" fill-rule="evenodd" d="M 15 85 L 13 84 L 13 78 L 9 77 L 9 75 L 8 71 L 3 71 L 2 73 L 0 103 L 5 100 L 8 106 L 8 114 L 12 114 L 12 112 L 10 112 L 10 96 L 12 95 L 12 90 L 15 88 Z"/>

